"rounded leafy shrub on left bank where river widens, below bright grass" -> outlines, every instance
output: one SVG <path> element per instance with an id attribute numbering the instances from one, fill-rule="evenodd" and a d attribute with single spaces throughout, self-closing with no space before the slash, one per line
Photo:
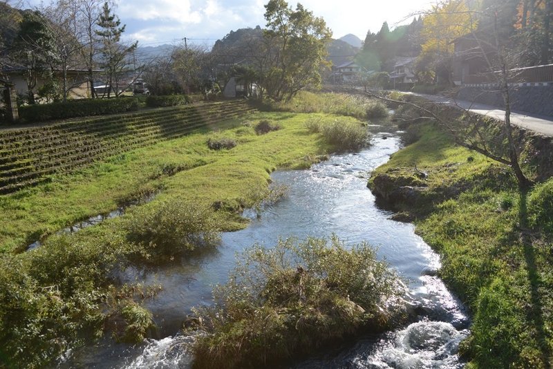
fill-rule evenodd
<path id="1" fill-rule="evenodd" d="M 140 245 L 143 258 L 153 262 L 214 245 L 220 239 L 212 212 L 182 200 L 164 202 L 156 209 L 140 207 L 129 218 L 129 240 Z"/>

